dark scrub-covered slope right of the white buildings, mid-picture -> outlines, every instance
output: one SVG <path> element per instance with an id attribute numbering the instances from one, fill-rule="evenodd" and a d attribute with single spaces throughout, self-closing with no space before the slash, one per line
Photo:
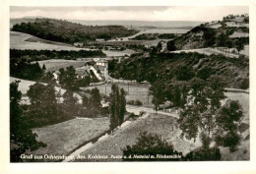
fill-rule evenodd
<path id="1" fill-rule="evenodd" d="M 111 64 L 111 63 L 110 63 Z M 198 53 L 161 53 L 135 56 L 109 67 L 110 76 L 151 84 L 171 84 L 193 78 L 221 76 L 227 87 L 248 88 L 249 60 Z"/>

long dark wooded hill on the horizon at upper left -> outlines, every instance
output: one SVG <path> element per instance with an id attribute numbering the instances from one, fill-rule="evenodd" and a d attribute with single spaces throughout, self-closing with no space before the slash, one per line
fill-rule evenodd
<path id="1" fill-rule="evenodd" d="M 133 35 L 138 32 L 137 30 L 126 29 L 121 26 L 83 26 L 81 24 L 54 19 L 35 19 L 32 23 L 16 24 L 12 30 L 66 43 L 96 40 L 96 38 L 111 39 Z"/>

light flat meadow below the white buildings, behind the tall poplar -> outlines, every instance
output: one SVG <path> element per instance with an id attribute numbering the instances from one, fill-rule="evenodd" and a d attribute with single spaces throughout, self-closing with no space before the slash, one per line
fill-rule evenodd
<path id="1" fill-rule="evenodd" d="M 121 82 L 122 80 L 120 80 Z M 146 107 L 154 107 L 154 105 L 152 104 L 152 95 L 149 95 L 148 97 L 148 92 L 149 92 L 149 86 L 147 85 L 135 85 L 135 84 L 129 84 L 129 86 L 127 84 L 121 84 L 121 83 L 117 83 L 116 85 L 118 85 L 118 87 L 123 87 L 125 91 L 127 91 L 127 95 L 126 95 L 126 100 L 136 100 L 139 99 L 140 101 L 143 102 L 143 106 Z M 108 83 L 105 85 L 101 85 L 101 86 L 96 86 L 99 89 L 99 92 L 101 94 L 105 94 L 107 96 L 109 96 L 109 93 L 111 92 L 111 83 Z M 128 87 L 129 87 L 129 92 L 128 92 Z M 94 87 L 82 87 L 82 89 L 92 89 Z"/>

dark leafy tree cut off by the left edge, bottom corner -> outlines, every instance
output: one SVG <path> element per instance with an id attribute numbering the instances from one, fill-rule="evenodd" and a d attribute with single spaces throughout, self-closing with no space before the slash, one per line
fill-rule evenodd
<path id="1" fill-rule="evenodd" d="M 35 150 L 46 146 L 36 141 L 37 135 L 32 133 L 23 118 L 23 110 L 20 106 L 22 92 L 18 90 L 19 82 L 10 84 L 10 144 L 11 161 L 20 162 L 21 154 L 27 150 Z"/>

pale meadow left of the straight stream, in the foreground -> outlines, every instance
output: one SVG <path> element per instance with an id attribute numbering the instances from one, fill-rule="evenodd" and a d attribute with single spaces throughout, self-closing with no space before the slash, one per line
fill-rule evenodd
<path id="1" fill-rule="evenodd" d="M 75 118 L 59 124 L 36 128 L 32 132 L 37 134 L 37 141 L 47 146 L 32 151 L 32 154 L 67 155 L 78 145 L 82 145 L 108 129 L 108 118 Z"/>

